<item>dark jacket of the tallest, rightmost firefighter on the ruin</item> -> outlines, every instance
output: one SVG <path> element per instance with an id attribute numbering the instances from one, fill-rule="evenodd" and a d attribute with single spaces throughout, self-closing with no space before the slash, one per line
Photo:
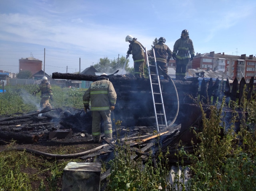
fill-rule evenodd
<path id="1" fill-rule="evenodd" d="M 189 58 L 189 54 L 195 55 L 193 42 L 189 36 L 186 39 L 183 39 L 181 36 L 180 39 L 174 43 L 173 53 L 175 53 L 176 57 L 179 59 Z"/>

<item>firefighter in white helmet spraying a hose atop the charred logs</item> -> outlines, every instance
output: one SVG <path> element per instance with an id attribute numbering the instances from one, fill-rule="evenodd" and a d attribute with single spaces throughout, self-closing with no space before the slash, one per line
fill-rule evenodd
<path id="1" fill-rule="evenodd" d="M 132 59 L 134 62 L 134 76 L 137 78 L 144 78 L 144 51 L 137 41 L 137 38 L 132 37 L 132 35 L 127 35 L 125 42 L 130 42 L 127 55 L 132 54 Z"/>

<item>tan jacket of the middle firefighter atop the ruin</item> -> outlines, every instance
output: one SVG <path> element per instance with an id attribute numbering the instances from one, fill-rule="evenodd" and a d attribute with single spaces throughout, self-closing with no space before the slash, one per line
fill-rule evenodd
<path id="1" fill-rule="evenodd" d="M 166 57 L 168 54 L 168 59 L 170 60 L 172 57 L 172 50 L 169 49 L 164 42 L 158 42 L 155 46 L 155 55 L 156 55 L 156 62 L 164 62 L 166 63 Z"/>

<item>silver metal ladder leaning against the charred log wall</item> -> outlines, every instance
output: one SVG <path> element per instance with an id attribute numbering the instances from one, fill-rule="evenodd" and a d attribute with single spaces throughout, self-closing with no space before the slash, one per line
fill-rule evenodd
<path id="1" fill-rule="evenodd" d="M 159 126 L 167 127 L 167 120 L 166 120 L 166 115 L 165 115 L 165 111 L 164 111 L 164 101 L 163 101 L 162 90 L 161 90 L 161 85 L 160 85 L 160 80 L 159 80 L 159 75 L 158 75 L 158 70 L 157 70 L 158 67 L 156 65 L 155 49 L 153 49 L 153 52 L 152 52 L 153 57 L 151 57 L 151 55 L 148 56 L 147 48 L 145 48 L 145 49 L 146 49 L 146 56 L 147 56 L 148 77 L 150 79 L 151 93 L 152 93 L 152 98 L 153 98 L 153 103 L 154 103 L 156 126 L 157 126 L 157 132 L 158 132 Z M 148 58 L 154 58 L 155 65 L 149 65 Z M 150 73 L 151 67 L 156 68 L 156 74 Z M 154 80 L 154 83 L 152 83 L 152 78 L 154 76 L 157 77 L 157 81 Z M 155 100 L 157 100 L 157 103 Z M 163 120 L 163 117 L 164 117 L 164 120 Z M 159 122 L 161 122 L 161 125 L 159 125 Z"/>

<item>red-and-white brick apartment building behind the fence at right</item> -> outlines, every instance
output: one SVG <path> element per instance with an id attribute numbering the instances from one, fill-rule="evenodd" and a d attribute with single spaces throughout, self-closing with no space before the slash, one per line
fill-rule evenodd
<path id="1" fill-rule="evenodd" d="M 225 55 L 224 52 L 215 54 L 214 51 L 204 54 L 196 53 L 194 60 L 188 63 L 188 68 L 223 71 L 233 80 L 237 78 L 240 81 L 244 77 L 246 82 L 249 82 L 252 76 L 254 78 L 256 76 L 256 57 L 253 55 L 246 57 L 246 54 Z"/>

